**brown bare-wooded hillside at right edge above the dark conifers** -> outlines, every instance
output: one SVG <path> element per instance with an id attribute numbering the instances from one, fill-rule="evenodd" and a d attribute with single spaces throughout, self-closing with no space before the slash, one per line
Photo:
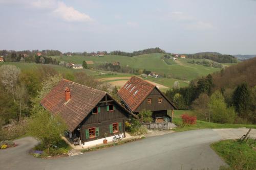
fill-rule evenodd
<path id="1" fill-rule="evenodd" d="M 256 85 L 255 72 L 256 58 L 229 66 L 213 74 L 215 88 L 234 88 L 243 82 L 247 82 L 250 87 L 253 87 Z"/>

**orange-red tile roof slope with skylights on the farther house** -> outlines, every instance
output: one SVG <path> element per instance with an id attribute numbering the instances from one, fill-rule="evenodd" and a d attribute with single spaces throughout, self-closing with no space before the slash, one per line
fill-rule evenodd
<path id="1" fill-rule="evenodd" d="M 132 76 L 132 78 L 118 91 L 118 94 L 127 107 L 132 111 L 135 111 L 155 87 L 155 85 L 149 82 L 136 76 Z"/>

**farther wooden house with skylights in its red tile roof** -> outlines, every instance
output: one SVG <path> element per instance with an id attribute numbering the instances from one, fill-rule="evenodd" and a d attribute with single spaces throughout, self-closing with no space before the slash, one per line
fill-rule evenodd
<path id="1" fill-rule="evenodd" d="M 167 111 L 176 109 L 155 85 L 136 76 L 132 76 L 124 84 L 118 91 L 118 95 L 125 107 L 132 113 L 138 114 L 142 110 L 151 110 L 155 121 L 164 118 L 166 120 L 166 117 L 170 119 Z"/>

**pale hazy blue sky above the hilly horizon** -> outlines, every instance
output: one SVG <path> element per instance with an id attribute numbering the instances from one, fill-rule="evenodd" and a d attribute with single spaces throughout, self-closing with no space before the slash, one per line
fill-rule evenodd
<path id="1" fill-rule="evenodd" d="M 254 0 L 0 0 L 0 50 L 256 54 Z"/>

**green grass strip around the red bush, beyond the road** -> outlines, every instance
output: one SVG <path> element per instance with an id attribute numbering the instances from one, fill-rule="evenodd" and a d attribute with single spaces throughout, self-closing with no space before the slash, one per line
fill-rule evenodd
<path id="1" fill-rule="evenodd" d="M 194 112 L 191 110 L 175 110 L 174 111 L 174 118 L 173 123 L 178 127 L 174 129 L 177 132 L 181 131 L 188 131 L 188 130 L 196 130 L 196 129 L 219 129 L 219 128 L 253 128 L 256 129 L 256 125 L 247 125 L 247 124 L 217 124 L 217 123 L 210 123 L 205 122 L 202 120 L 197 120 L 197 124 L 195 125 L 187 125 L 184 126 L 182 124 L 181 115 L 187 113 L 189 115 L 194 115 Z M 170 112 L 168 112 L 171 115 Z"/>

